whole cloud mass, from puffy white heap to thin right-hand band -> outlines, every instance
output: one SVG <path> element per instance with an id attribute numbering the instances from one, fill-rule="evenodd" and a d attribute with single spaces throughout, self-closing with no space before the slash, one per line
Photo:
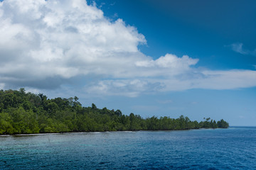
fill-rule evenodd
<path id="1" fill-rule="evenodd" d="M 154 60 L 139 51 L 145 44 L 137 28 L 110 21 L 84 0 L 4 0 L 0 87 L 61 89 L 79 78 L 84 93 L 135 97 L 256 86 L 255 71 L 198 69 L 198 59 L 187 55 Z M 241 45 L 236 49 L 242 52 Z"/>

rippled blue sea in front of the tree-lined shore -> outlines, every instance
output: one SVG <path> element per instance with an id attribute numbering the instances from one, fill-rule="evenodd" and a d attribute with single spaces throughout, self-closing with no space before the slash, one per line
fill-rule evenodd
<path id="1" fill-rule="evenodd" d="M 0 169 L 256 169 L 256 128 L 1 136 Z"/>

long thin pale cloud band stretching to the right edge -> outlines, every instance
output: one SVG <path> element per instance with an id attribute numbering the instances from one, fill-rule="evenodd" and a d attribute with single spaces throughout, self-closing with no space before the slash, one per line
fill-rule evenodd
<path id="1" fill-rule="evenodd" d="M 164 91 L 183 91 L 187 89 L 227 90 L 256 86 L 256 71 L 230 70 L 201 72 L 201 76 L 192 78 L 154 77 L 141 79 L 110 79 L 85 86 L 87 93 L 100 95 L 122 95 L 136 97 Z M 135 82 L 135 83 L 132 83 Z M 121 85 L 120 85 L 121 84 Z"/>

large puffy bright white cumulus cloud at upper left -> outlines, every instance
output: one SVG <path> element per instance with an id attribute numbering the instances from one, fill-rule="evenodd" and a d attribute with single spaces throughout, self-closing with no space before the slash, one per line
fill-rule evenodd
<path id="1" fill-rule="evenodd" d="M 146 43 L 136 28 L 122 19 L 108 21 L 86 1 L 5 0 L 0 21 L 2 76 L 10 72 L 23 72 L 24 79 L 105 74 L 108 67 L 142 56 L 137 46 Z"/>

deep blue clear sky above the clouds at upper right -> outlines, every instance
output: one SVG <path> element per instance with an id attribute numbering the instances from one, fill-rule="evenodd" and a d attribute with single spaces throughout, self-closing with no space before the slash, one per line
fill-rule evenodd
<path id="1" fill-rule="evenodd" d="M 255 1 L 96 1 L 105 15 L 122 18 L 145 35 L 146 55 L 166 53 L 200 59 L 198 66 L 210 69 L 255 69 L 256 55 L 230 50 L 243 44 L 256 48 Z"/>

